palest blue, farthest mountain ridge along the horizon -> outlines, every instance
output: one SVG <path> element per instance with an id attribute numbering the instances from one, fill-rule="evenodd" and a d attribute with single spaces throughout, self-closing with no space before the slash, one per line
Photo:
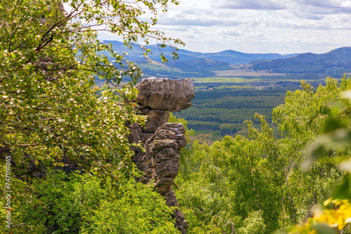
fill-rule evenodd
<path id="1" fill-rule="evenodd" d="M 133 46 L 132 50 L 128 50 L 124 43 L 119 41 L 104 41 L 105 43 L 111 43 L 114 50 L 118 53 L 127 52 L 128 60 L 136 61 L 136 60 L 144 60 L 143 58 L 143 50 L 141 50 L 138 45 Z M 161 58 L 159 57 L 159 51 L 162 50 L 164 56 L 168 58 L 171 62 L 171 54 L 174 51 L 174 48 L 170 46 L 166 46 L 165 48 L 159 48 L 157 45 L 145 46 L 145 48 L 149 48 L 152 50 L 149 57 L 150 60 L 161 62 Z M 226 62 L 228 64 L 246 64 L 249 62 L 253 62 L 256 60 L 278 60 L 286 57 L 292 57 L 297 54 L 291 55 L 279 55 L 277 53 L 241 53 L 235 50 L 224 50 L 218 53 L 199 53 L 192 52 L 190 50 L 179 49 L 177 51 L 179 59 L 176 62 L 189 61 L 189 60 L 199 60 L 199 59 L 208 59 L 208 60 L 216 60 L 218 62 Z"/>

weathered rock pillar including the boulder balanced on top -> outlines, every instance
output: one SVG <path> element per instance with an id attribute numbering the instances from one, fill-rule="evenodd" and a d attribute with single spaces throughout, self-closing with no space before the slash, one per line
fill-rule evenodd
<path id="1" fill-rule="evenodd" d="M 138 110 L 145 115 L 145 126 L 131 125 L 131 142 L 142 142 L 145 151 L 135 148 L 132 160 L 144 172 L 140 181 L 153 183 L 155 191 L 166 197 L 166 204 L 178 207 L 176 195 L 172 190 L 173 179 L 179 170 L 180 149 L 185 147 L 185 128 L 181 123 L 166 123 L 167 111 L 180 111 L 191 106 L 194 97 L 192 81 L 147 78 L 137 88 Z M 179 209 L 173 212 L 176 226 L 186 233 L 187 221 Z"/>

